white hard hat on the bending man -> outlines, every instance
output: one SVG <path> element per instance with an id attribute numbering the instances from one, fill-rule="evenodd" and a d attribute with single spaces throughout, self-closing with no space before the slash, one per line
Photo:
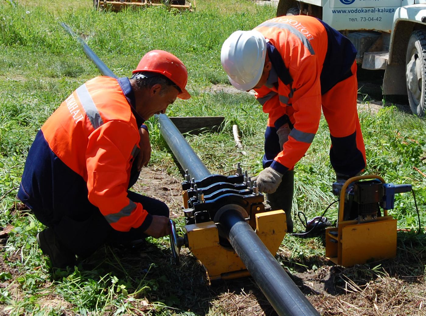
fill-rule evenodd
<path id="1" fill-rule="evenodd" d="M 220 61 L 230 83 L 241 91 L 252 89 L 265 65 L 266 39 L 259 31 L 235 31 L 225 40 Z"/>

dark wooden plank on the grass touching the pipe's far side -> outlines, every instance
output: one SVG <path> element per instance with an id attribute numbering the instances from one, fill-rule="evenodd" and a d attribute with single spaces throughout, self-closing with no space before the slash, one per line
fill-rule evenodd
<path id="1" fill-rule="evenodd" d="M 219 131 L 223 116 L 169 117 L 178 130 L 184 134 L 200 134 L 204 131 Z"/>

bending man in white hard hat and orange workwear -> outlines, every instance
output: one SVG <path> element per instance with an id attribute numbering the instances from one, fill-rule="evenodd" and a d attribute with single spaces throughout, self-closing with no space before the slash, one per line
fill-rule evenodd
<path id="1" fill-rule="evenodd" d="M 283 209 L 293 231 L 294 165 L 317 132 L 321 108 L 330 130 L 330 161 L 337 180 L 366 167 L 357 114 L 357 52 L 321 20 L 283 16 L 251 31 L 236 31 L 222 46 L 221 61 L 237 89 L 254 89 L 268 113 L 259 191 L 273 209 Z"/>

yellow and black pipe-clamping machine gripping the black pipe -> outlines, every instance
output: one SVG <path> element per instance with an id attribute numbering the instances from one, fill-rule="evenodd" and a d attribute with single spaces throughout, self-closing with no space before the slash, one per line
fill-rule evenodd
<path id="1" fill-rule="evenodd" d="M 271 254 L 276 254 L 287 232 L 285 212 L 265 207 L 263 195 L 240 168 L 236 175 L 211 175 L 201 181 L 185 175 L 182 188 L 186 225 L 183 240 L 177 237 L 173 242 L 171 238 L 176 261 L 178 246 L 185 245 L 204 266 L 210 281 L 249 276 L 218 224 L 221 213 L 230 207 L 242 214 Z"/>

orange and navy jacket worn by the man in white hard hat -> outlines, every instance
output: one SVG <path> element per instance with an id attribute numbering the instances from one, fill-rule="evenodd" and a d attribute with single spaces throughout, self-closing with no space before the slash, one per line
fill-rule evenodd
<path id="1" fill-rule="evenodd" d="M 275 76 L 276 84 L 255 89 L 256 99 L 269 114 L 268 128 L 276 131 L 285 122 L 292 127 L 283 151 L 271 164 L 284 173 L 294 168 L 311 145 L 320 122 L 321 95 L 351 75 L 356 50 L 322 21 L 303 15 L 276 17 L 255 30 L 279 52 L 293 80 L 284 84 L 273 68 L 268 80 Z"/>

